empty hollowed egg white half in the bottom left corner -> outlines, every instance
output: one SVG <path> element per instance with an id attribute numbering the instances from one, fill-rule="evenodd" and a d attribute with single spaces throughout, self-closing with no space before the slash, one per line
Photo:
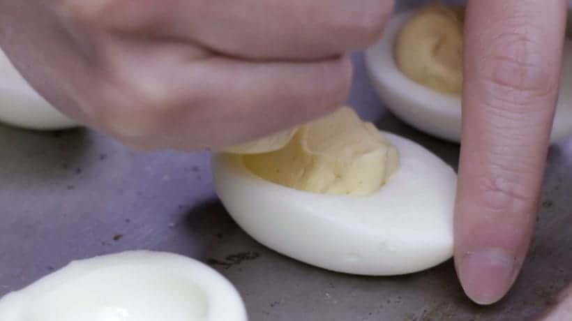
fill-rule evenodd
<path id="1" fill-rule="evenodd" d="M 125 252 L 70 263 L 0 300 L 2 321 L 246 321 L 238 292 L 188 257 Z"/>

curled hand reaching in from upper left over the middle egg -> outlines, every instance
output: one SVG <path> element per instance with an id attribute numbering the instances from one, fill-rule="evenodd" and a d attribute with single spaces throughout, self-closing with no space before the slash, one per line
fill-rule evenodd
<path id="1" fill-rule="evenodd" d="M 0 0 L 0 46 L 71 117 L 140 148 L 252 140 L 345 100 L 390 0 Z"/>

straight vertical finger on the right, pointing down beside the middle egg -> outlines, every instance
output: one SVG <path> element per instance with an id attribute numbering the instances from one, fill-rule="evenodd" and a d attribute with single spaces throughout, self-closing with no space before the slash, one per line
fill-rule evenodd
<path id="1" fill-rule="evenodd" d="M 557 99 L 566 1 L 469 0 L 455 259 L 467 295 L 501 299 L 529 246 Z"/>

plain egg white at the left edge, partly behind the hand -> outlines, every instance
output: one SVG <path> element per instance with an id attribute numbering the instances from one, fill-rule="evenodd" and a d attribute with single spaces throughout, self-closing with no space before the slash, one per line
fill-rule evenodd
<path id="1" fill-rule="evenodd" d="M 0 50 L 0 122 L 35 130 L 77 126 L 28 84 Z"/>

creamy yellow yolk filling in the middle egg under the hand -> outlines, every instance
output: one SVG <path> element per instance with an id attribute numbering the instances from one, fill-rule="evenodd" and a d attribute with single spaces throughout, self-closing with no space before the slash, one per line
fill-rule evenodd
<path id="1" fill-rule="evenodd" d="M 370 195 L 399 163 L 397 149 L 349 107 L 301 126 L 281 149 L 242 157 L 263 179 L 333 195 Z"/>

